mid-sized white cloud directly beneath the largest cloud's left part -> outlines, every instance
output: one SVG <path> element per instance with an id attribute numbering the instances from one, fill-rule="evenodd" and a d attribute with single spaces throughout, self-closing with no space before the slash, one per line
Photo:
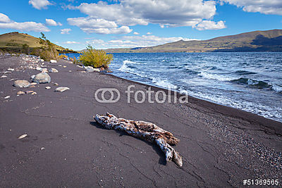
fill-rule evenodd
<path id="1" fill-rule="evenodd" d="M 104 20 L 101 18 L 92 17 L 80 17 L 80 18 L 68 18 L 69 25 L 75 25 L 87 33 L 95 32 L 97 34 L 128 34 L 132 32 L 128 26 L 118 25 L 113 21 Z"/>

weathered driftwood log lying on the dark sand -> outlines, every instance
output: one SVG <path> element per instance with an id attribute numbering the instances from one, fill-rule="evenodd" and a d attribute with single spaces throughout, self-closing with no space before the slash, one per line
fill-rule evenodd
<path id="1" fill-rule="evenodd" d="M 156 143 L 161 148 L 161 151 L 166 154 L 166 161 L 173 161 L 176 165 L 182 166 L 181 156 L 171 146 L 178 144 L 179 139 L 173 137 L 171 132 L 167 132 L 153 123 L 116 118 L 116 116 L 109 113 L 106 113 L 106 116 L 97 114 L 94 119 L 106 129 L 123 130 L 133 137 Z"/>

